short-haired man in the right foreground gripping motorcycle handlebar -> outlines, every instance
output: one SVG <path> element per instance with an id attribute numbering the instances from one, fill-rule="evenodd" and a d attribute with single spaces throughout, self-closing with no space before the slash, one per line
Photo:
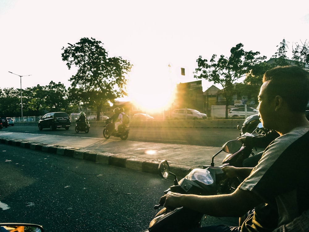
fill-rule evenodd
<path id="1" fill-rule="evenodd" d="M 248 215 L 241 226 L 219 225 L 191 231 L 270 232 L 291 223 L 309 209 L 309 122 L 305 115 L 308 100 L 307 71 L 296 66 L 267 71 L 258 109 L 263 127 L 273 128 L 280 136 L 265 149 L 249 176 L 231 194 L 171 193 L 161 197 L 159 203 L 167 208 L 184 206 L 216 217 L 239 217 L 252 208 L 260 209 Z M 266 207 L 275 209 L 278 217 L 261 213 Z"/>

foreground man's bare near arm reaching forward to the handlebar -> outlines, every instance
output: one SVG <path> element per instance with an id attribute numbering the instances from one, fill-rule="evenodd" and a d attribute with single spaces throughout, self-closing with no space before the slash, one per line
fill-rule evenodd
<path id="1" fill-rule="evenodd" d="M 171 193 L 161 197 L 160 203 L 163 202 L 167 208 L 184 206 L 215 217 L 241 217 L 263 201 L 251 191 L 237 188 L 233 193 L 224 195 L 201 196 Z"/>

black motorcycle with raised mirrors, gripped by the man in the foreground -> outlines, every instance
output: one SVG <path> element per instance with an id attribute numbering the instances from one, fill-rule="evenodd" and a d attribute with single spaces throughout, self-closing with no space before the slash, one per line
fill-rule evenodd
<path id="1" fill-rule="evenodd" d="M 229 153 L 222 161 L 222 165 L 214 167 L 214 158 L 222 151 Z M 242 161 L 248 158 L 252 153 L 252 148 L 246 148 L 239 140 L 231 140 L 222 146 L 212 157 L 210 165 L 204 165 L 203 169 L 195 168 L 189 172 L 180 181 L 177 180 L 175 174 L 169 171 L 169 164 L 166 160 L 160 162 L 158 170 L 163 178 L 167 178 L 169 174 L 175 177 L 174 185 L 169 187 L 164 194 L 177 192 L 181 194 L 197 194 L 197 195 L 216 195 L 227 194 L 235 191 L 241 180 L 235 178 L 227 178 L 222 171 L 225 165 L 242 166 Z M 155 209 L 163 205 L 155 205 Z M 176 232 L 185 231 L 201 226 L 202 213 L 194 210 L 180 207 L 175 209 L 161 209 L 150 222 L 149 232 Z"/>

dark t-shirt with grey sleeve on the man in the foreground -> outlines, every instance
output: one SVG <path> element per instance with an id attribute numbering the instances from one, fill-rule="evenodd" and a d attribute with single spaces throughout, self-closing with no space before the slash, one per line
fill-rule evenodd
<path id="1" fill-rule="evenodd" d="M 309 128 L 298 127 L 275 139 L 266 149 L 251 174 L 239 185 L 254 192 L 276 213 L 268 217 L 256 210 L 242 226 L 242 231 L 272 231 L 293 221 L 309 208 L 308 162 Z M 263 208 L 263 207 L 262 207 Z"/>

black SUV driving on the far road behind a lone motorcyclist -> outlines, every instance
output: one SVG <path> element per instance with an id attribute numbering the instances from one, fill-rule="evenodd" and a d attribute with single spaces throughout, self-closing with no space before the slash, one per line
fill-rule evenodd
<path id="1" fill-rule="evenodd" d="M 38 123 L 39 130 L 43 128 L 49 128 L 51 131 L 57 128 L 66 128 L 69 130 L 71 126 L 70 117 L 66 112 L 52 112 L 45 114 Z"/>

